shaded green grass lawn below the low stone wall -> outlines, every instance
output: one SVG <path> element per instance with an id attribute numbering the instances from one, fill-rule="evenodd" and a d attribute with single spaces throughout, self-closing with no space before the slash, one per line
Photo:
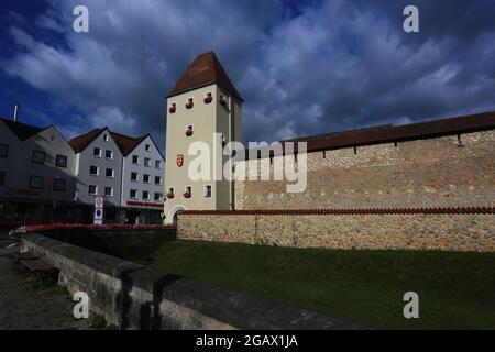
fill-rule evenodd
<path id="1" fill-rule="evenodd" d="M 372 328 L 495 329 L 495 253 L 170 241 L 152 266 Z M 410 290 L 420 319 L 403 316 Z"/>

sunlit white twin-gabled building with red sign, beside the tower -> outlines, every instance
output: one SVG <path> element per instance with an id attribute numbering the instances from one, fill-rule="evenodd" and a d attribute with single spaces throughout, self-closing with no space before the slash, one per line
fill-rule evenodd
<path id="1" fill-rule="evenodd" d="M 131 138 L 96 129 L 73 139 L 79 222 L 92 219 L 105 197 L 105 222 L 161 223 L 164 157 L 150 135 Z"/>

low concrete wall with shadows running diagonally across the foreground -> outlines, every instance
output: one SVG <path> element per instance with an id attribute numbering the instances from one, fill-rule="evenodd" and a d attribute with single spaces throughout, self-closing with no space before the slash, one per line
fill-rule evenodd
<path id="1" fill-rule="evenodd" d="M 25 234 L 24 250 L 61 270 L 59 284 L 86 292 L 90 309 L 122 329 L 359 329 L 353 323 L 285 307 L 210 284 Z"/>

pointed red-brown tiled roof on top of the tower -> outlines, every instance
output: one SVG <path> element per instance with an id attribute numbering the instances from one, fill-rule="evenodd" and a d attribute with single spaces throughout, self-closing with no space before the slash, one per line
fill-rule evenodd
<path id="1" fill-rule="evenodd" d="M 195 58 L 172 89 L 168 98 L 213 84 L 222 86 L 234 97 L 243 100 L 213 52 L 200 54 Z"/>

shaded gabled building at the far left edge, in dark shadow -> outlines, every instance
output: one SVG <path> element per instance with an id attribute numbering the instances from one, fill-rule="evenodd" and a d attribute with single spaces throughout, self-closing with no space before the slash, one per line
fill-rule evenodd
<path id="1" fill-rule="evenodd" d="M 76 155 L 53 127 L 0 119 L 0 219 L 74 218 Z"/>

